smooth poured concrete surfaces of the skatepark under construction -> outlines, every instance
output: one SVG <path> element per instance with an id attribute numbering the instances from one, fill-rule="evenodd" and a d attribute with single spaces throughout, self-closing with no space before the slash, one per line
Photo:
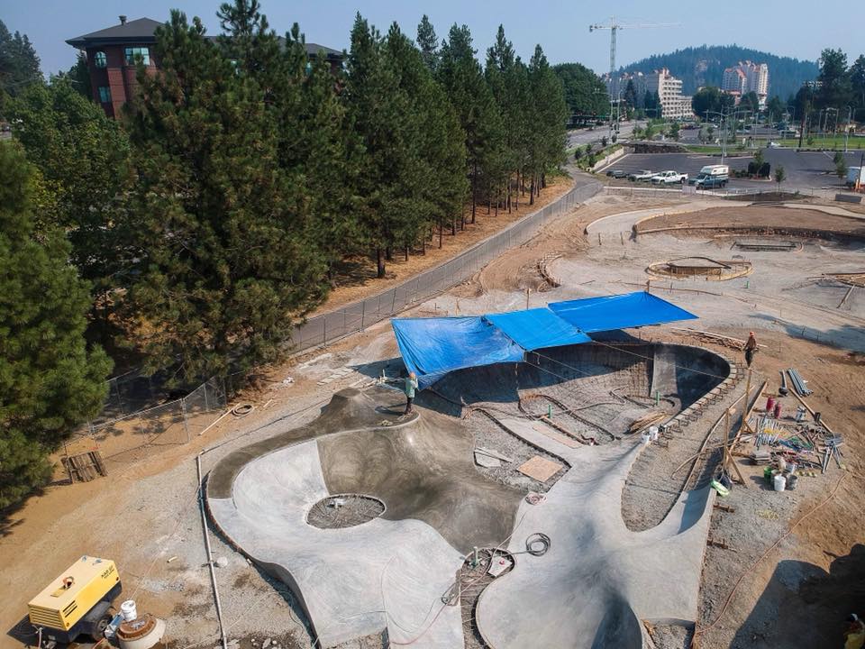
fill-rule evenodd
<path id="1" fill-rule="evenodd" d="M 595 367 L 595 377 L 604 377 L 603 349 L 592 347 L 560 351 L 560 358 L 577 363 L 575 376 Z M 657 371 L 632 354 L 636 370 L 623 373 L 619 360 L 606 372 L 639 376 L 644 393 L 657 387 L 676 394 L 681 407 L 712 384 L 682 379 L 677 370 L 687 350 L 673 348 L 659 354 Z M 692 362 L 712 366 L 707 356 Z M 674 363 L 679 367 L 671 370 Z M 499 370 L 520 380 L 500 386 L 497 398 L 513 410 L 500 413 L 500 426 L 569 467 L 540 505 L 524 500 L 526 489 L 478 471 L 475 442 L 459 415 L 423 407 L 421 416 L 402 416 L 401 393 L 384 388 L 342 390 L 311 424 L 232 452 L 210 472 L 206 501 L 215 526 L 295 592 L 320 646 L 382 632 L 395 645 L 464 646 L 463 611 L 444 601 L 459 590 L 455 575 L 474 546 L 516 555 L 514 570 L 478 602 L 478 629 L 490 647 L 637 647 L 641 619 L 693 623 L 711 511 L 706 490 L 682 494 L 659 526 L 628 531 L 622 490 L 642 444 L 621 435 L 604 446 L 557 442 L 538 418 L 508 403 L 555 381 L 536 368 L 508 368 Z M 483 371 L 484 380 L 469 373 L 459 381 L 466 392 L 476 388 L 469 401 L 496 391 L 490 369 Z M 574 392 L 589 400 L 605 390 L 581 385 L 586 389 Z M 459 388 L 453 379 L 450 388 Z M 428 400 L 434 398 L 419 399 Z M 616 425 L 645 412 L 625 406 L 633 415 L 619 416 Z M 339 529 L 307 522 L 316 503 L 341 494 L 378 498 L 385 510 Z M 524 553 L 533 532 L 551 536 L 542 556 Z"/>

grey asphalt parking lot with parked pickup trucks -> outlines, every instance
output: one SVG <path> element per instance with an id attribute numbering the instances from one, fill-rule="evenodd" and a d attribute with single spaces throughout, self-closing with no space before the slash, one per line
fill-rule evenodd
<path id="1" fill-rule="evenodd" d="M 811 190 L 842 190 L 843 183 L 835 175 L 832 151 L 795 151 L 793 149 L 763 149 L 763 156 L 774 175 L 778 165 L 782 165 L 787 173 L 787 180 L 782 188 L 786 191 L 807 193 Z M 733 169 L 748 169 L 748 163 L 753 160 L 751 153 L 733 151 L 733 155 L 724 158 L 724 164 Z M 859 166 L 861 153 L 851 152 L 846 155 L 849 166 Z M 703 153 L 630 153 L 615 160 L 613 164 L 602 169 L 602 173 L 610 169 L 622 169 L 633 173 L 641 169 L 651 169 L 655 172 L 675 169 L 687 173 L 689 178 L 696 176 L 706 165 L 721 164 L 720 155 Z M 615 180 L 616 184 L 627 184 L 627 180 Z M 647 183 L 642 183 L 647 184 Z M 772 180 L 751 180 L 749 178 L 730 178 L 729 189 L 774 189 Z"/>

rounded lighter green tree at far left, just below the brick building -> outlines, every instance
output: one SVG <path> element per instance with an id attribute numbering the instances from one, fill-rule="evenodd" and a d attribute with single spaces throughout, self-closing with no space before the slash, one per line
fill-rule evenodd
<path id="1" fill-rule="evenodd" d="M 70 261 L 93 285 L 96 322 L 107 336 L 115 289 L 127 286 L 135 256 L 123 199 L 128 139 L 69 78 L 23 88 L 9 102 L 7 116 L 28 159 L 53 190 L 50 226 L 67 233 Z"/>

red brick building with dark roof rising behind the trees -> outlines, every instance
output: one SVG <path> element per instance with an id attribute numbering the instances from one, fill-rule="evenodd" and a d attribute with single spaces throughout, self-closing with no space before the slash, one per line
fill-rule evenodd
<path id="1" fill-rule="evenodd" d="M 87 55 L 90 86 L 94 101 L 101 105 L 105 114 L 114 117 L 138 85 L 135 78 L 139 60 L 148 72 L 159 69 L 154 45 L 156 28 L 163 23 L 150 18 L 127 21 L 120 16 L 120 24 L 92 32 L 67 42 Z M 337 68 L 342 62 L 342 52 L 331 48 L 306 43 L 306 53 L 316 57 L 320 53 Z"/>

